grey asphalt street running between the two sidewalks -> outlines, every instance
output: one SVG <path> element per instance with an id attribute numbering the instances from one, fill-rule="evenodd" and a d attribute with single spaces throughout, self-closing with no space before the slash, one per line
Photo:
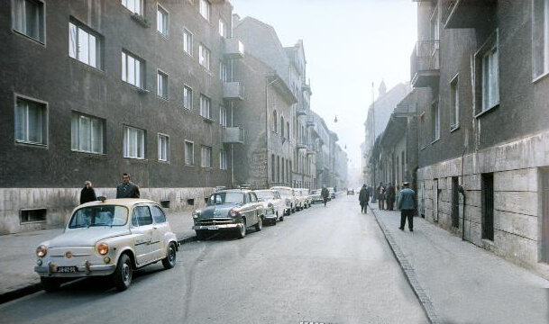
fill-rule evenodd
<path id="1" fill-rule="evenodd" d="M 2 323 L 427 323 L 357 195 L 314 205 L 243 239 L 185 244 L 116 293 L 80 280 L 0 306 Z"/>

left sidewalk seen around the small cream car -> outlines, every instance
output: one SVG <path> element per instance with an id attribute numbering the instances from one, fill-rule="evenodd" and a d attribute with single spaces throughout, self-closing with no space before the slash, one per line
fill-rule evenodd
<path id="1" fill-rule="evenodd" d="M 167 218 L 179 243 L 195 238 L 190 211 L 169 212 Z M 34 272 L 34 249 L 63 229 L 42 229 L 32 232 L 0 235 L 0 304 L 41 290 L 40 276 Z"/>

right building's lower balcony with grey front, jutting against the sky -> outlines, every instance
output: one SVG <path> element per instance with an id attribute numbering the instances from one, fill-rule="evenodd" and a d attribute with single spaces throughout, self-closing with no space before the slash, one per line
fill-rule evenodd
<path id="1" fill-rule="evenodd" d="M 440 79 L 440 41 L 417 41 L 410 57 L 412 86 L 434 87 Z"/>

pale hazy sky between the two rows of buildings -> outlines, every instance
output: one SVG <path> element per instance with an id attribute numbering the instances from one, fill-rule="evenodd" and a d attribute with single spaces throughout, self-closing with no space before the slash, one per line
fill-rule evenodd
<path id="1" fill-rule="evenodd" d="M 388 89 L 409 81 L 416 42 L 412 0 L 229 0 L 233 13 L 274 27 L 282 46 L 303 40 L 311 109 L 360 166 L 362 124 L 381 80 Z M 245 46 L 245 44 L 244 44 Z M 334 117 L 337 115 L 337 123 Z"/>

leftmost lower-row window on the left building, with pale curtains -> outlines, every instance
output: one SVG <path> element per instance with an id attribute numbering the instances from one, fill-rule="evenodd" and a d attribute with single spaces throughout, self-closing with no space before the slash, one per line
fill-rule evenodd
<path id="1" fill-rule="evenodd" d="M 36 103 L 17 98 L 15 105 L 15 141 L 26 144 L 48 144 L 48 108 L 45 103 Z"/>

